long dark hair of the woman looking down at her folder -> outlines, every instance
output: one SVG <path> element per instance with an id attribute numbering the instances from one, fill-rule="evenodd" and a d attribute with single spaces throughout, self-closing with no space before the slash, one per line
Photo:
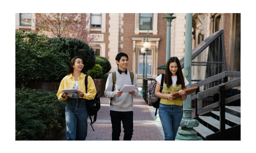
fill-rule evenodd
<path id="1" fill-rule="evenodd" d="M 165 78 L 164 78 L 164 83 L 167 85 L 167 88 L 170 88 L 172 85 L 172 72 L 170 71 L 170 64 L 176 62 L 178 66 L 178 71 L 176 72 L 177 75 L 177 85 L 181 84 L 182 89 L 185 88 L 185 82 L 184 82 L 184 76 L 181 71 L 181 66 L 180 66 L 180 61 L 177 57 L 171 57 L 166 63 L 165 67 Z"/>

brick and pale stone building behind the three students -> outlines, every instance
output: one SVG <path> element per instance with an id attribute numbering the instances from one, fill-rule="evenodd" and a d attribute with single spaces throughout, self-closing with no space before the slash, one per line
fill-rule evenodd
<path id="1" fill-rule="evenodd" d="M 117 69 L 115 57 L 118 52 L 129 56 L 128 70 L 135 72 L 138 84 L 142 84 L 143 39 L 151 44 L 148 52 L 148 78 L 156 78 L 164 70 L 166 21 L 164 13 L 91 13 L 91 34 L 96 35 L 92 48 L 96 55 L 108 58 L 112 69 Z M 174 13 L 171 27 L 171 56 L 184 57 L 186 13 Z M 38 33 L 34 13 L 16 13 L 16 29 Z M 212 33 L 224 29 L 226 61 L 228 70 L 240 71 L 240 13 L 193 13 L 192 49 Z M 207 60 L 207 50 L 195 61 Z M 197 73 L 200 72 L 200 73 Z M 204 79 L 205 68 L 192 68 L 192 79 Z"/>

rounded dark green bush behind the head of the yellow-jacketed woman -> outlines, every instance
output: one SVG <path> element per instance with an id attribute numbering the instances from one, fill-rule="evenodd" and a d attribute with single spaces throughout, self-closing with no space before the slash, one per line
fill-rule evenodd
<path id="1" fill-rule="evenodd" d="M 69 62 L 73 57 L 81 56 L 84 59 L 83 63 L 85 71 L 88 71 L 95 66 L 95 53 L 84 41 L 73 38 L 58 37 L 49 38 L 48 42 L 49 46 L 57 47 L 59 52 L 69 54 L 69 60 L 66 61 L 67 65 L 69 65 Z M 68 69 L 65 72 L 67 71 Z"/>

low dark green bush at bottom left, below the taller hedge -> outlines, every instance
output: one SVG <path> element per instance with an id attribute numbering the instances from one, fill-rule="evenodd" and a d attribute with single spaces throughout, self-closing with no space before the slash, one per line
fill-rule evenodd
<path id="1" fill-rule="evenodd" d="M 40 140 L 45 132 L 64 128 L 66 104 L 56 92 L 16 89 L 16 140 Z"/>

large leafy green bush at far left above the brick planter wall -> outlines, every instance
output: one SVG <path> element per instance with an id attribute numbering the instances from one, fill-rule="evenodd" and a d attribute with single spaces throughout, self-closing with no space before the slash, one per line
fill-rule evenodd
<path id="1" fill-rule="evenodd" d="M 66 75 L 68 53 L 47 44 L 44 34 L 16 30 L 15 83 L 24 86 L 28 81 L 55 81 Z"/>

